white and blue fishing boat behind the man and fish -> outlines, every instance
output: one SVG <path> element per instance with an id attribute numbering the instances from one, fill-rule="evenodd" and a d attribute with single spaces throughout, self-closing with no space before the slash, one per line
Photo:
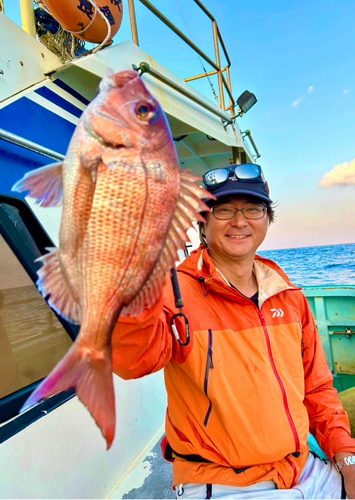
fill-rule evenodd
<path id="1" fill-rule="evenodd" d="M 104 40 L 85 50 L 71 39 L 73 50 L 64 52 L 41 42 L 32 0 L 21 0 L 23 28 L 6 16 L 7 1 L 0 0 L 0 44 L 6 47 L 0 55 L 0 469 L 6 471 L 0 498 L 121 498 L 138 486 L 137 474 L 149 470 L 149 457 L 157 456 L 166 411 L 163 375 L 131 381 L 114 376 L 117 434 L 109 451 L 73 391 L 19 414 L 78 330 L 49 308 L 34 284 L 35 259 L 58 243 L 61 210 L 13 196 L 11 186 L 26 171 L 63 158 L 108 68 L 139 72 L 167 114 L 181 167 L 197 175 L 260 156 L 251 132 L 239 127 L 239 117 L 256 98 L 246 91 L 234 99 L 227 49 L 215 17 L 200 0 L 194 3 L 211 22 L 214 59 L 151 2 L 139 0 L 212 68 L 185 80 L 139 46 L 134 0 L 128 0 L 132 41 L 107 45 Z M 202 78 L 216 78 L 219 105 L 192 86 Z M 354 387 L 355 289 L 305 293 L 337 389 Z M 164 487 L 161 498 L 168 497 L 168 479 Z"/>

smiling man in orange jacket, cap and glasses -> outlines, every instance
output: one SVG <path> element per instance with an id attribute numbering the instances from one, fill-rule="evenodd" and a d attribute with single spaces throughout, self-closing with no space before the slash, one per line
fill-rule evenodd
<path id="1" fill-rule="evenodd" d="M 178 268 L 190 343 L 181 316 L 180 341 L 172 335 L 178 311 L 167 284 L 153 308 L 120 319 L 114 371 L 128 379 L 164 367 L 164 444 L 178 496 L 341 498 L 335 466 L 309 453 L 310 431 L 355 498 L 355 440 L 307 300 L 255 256 L 274 218 L 261 168 L 214 169 L 204 185 L 217 200 L 201 247 Z"/>

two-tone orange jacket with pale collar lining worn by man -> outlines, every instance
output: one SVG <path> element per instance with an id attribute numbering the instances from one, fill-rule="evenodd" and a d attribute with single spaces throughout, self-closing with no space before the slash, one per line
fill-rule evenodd
<path id="1" fill-rule="evenodd" d="M 174 485 L 296 484 L 309 430 L 332 458 L 355 452 L 347 414 L 333 388 L 314 318 L 300 288 L 272 261 L 256 257 L 259 309 L 229 286 L 207 250 L 178 269 L 191 342 L 181 347 L 170 320 L 172 287 L 113 334 L 114 371 L 130 379 L 165 368 L 166 434 L 178 454 Z M 180 337 L 185 329 L 177 323 Z M 247 468 L 244 472 L 235 471 Z"/>

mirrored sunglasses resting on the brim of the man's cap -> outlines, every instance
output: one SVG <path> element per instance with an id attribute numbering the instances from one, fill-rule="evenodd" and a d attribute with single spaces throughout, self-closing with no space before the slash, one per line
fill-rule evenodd
<path id="1" fill-rule="evenodd" d="M 260 165 L 256 165 L 255 163 L 233 165 L 229 168 L 214 168 L 206 172 L 202 179 L 207 187 L 218 186 L 227 182 L 228 179 L 241 182 L 265 182 Z"/>

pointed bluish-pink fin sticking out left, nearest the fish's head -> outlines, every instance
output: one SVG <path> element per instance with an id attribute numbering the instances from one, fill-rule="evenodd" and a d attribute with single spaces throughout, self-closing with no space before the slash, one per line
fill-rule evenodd
<path id="1" fill-rule="evenodd" d="M 12 191 L 28 191 L 42 207 L 59 207 L 63 199 L 63 163 L 31 170 L 12 186 Z"/>

